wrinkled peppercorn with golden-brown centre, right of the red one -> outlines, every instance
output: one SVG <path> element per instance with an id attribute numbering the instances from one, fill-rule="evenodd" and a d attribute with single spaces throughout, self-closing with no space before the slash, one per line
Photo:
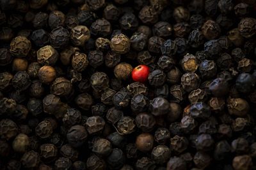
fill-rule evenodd
<path id="1" fill-rule="evenodd" d="M 198 68 L 198 59 L 195 55 L 187 53 L 181 60 L 181 66 L 186 72 L 195 72 Z"/>

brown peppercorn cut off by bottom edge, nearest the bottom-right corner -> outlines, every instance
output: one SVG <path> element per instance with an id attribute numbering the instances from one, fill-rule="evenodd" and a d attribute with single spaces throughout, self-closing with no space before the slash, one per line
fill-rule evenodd
<path id="1" fill-rule="evenodd" d="M 233 159 L 232 166 L 235 170 L 249 170 L 253 166 L 252 158 L 249 155 L 236 156 Z"/>

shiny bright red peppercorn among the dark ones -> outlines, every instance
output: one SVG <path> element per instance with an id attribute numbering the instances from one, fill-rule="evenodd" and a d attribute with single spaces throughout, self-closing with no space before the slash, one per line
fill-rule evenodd
<path id="1" fill-rule="evenodd" d="M 145 65 L 137 66 L 132 70 L 132 80 L 145 83 L 145 81 L 147 81 L 148 74 L 149 74 L 148 66 L 145 66 Z"/>

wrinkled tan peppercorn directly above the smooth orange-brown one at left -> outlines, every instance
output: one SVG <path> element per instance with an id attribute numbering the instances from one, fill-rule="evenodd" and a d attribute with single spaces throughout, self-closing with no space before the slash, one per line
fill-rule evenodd
<path id="1" fill-rule="evenodd" d="M 37 60 L 39 64 L 53 66 L 59 57 L 57 50 L 51 45 L 44 46 L 37 51 Z"/>

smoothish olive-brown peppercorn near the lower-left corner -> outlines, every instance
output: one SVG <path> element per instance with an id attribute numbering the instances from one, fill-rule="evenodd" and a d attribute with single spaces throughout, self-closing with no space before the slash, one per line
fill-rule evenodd
<path id="1" fill-rule="evenodd" d="M 27 152 L 29 149 L 29 138 L 26 134 L 18 134 L 12 142 L 12 148 L 15 152 Z"/>

